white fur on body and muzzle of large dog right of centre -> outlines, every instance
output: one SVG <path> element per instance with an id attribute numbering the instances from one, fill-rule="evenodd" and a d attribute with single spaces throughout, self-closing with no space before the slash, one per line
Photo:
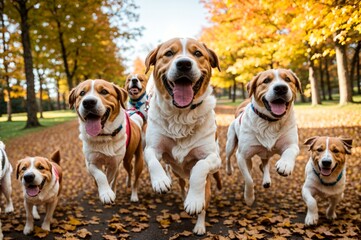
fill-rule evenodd
<path id="1" fill-rule="evenodd" d="M 278 75 L 277 75 L 278 76 Z M 275 84 L 279 84 L 276 80 Z M 266 93 L 272 95 L 273 86 Z M 290 92 L 290 89 L 289 89 Z M 263 113 L 269 114 L 264 107 L 257 104 L 252 96 L 251 102 L 255 108 Z M 241 123 L 239 119 L 242 118 Z M 238 146 L 236 145 L 238 143 Z M 260 118 L 251 108 L 249 103 L 243 114 L 238 116 L 229 126 L 226 143 L 226 171 L 229 175 L 233 173 L 230 158 L 236 150 L 239 169 L 245 180 L 244 198 L 247 205 L 252 205 L 255 199 L 254 183 L 251 176 L 252 160 L 254 155 L 259 155 L 262 160 L 263 186 L 271 185 L 269 173 L 269 158 L 274 154 L 280 154 L 281 158 L 276 163 L 277 172 L 288 176 L 292 173 L 295 160 L 299 154 L 298 133 L 296 118 L 293 112 L 293 103 L 290 103 L 288 112 L 280 120 L 269 122 Z"/>

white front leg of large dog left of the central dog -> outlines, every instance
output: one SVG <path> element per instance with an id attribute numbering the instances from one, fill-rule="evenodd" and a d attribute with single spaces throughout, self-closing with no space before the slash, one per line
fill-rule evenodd
<path id="1" fill-rule="evenodd" d="M 98 193 L 100 201 L 103 204 L 113 203 L 115 200 L 115 193 L 110 188 L 107 176 L 95 164 L 88 164 L 88 171 L 94 177 L 98 186 Z"/>

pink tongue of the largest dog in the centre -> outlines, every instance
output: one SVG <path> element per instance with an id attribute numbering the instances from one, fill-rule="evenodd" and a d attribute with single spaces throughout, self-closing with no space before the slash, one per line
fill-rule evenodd
<path id="1" fill-rule="evenodd" d="M 186 107 L 193 101 L 193 88 L 190 81 L 176 81 L 173 88 L 173 100 L 179 107 Z"/>

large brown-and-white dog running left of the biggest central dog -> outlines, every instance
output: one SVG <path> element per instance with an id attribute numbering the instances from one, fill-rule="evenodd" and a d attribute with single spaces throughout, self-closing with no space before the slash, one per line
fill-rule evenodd
<path id="1" fill-rule="evenodd" d="M 105 80 L 86 80 L 72 89 L 70 108 L 75 108 L 79 118 L 79 138 L 83 142 L 85 163 L 98 186 L 102 203 L 113 203 L 120 163 L 128 173 L 131 184 L 132 159 L 135 155 L 131 186 L 132 202 L 138 201 L 138 180 L 143 170 L 141 144 L 142 119 L 136 122 L 125 111 L 127 92 Z M 105 169 L 103 170 L 103 166 Z"/>

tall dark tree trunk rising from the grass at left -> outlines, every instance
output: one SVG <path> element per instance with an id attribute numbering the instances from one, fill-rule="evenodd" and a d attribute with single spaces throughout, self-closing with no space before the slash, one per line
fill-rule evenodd
<path id="1" fill-rule="evenodd" d="M 33 57 L 31 55 L 30 45 L 30 31 L 28 23 L 29 9 L 26 7 L 27 0 L 16 0 L 17 10 L 20 14 L 21 22 L 21 42 L 23 45 L 23 57 L 25 65 L 26 76 L 26 107 L 27 107 L 27 121 L 25 128 L 32 128 L 40 126 L 37 118 L 36 96 L 34 87 L 34 73 L 33 73 Z"/>

